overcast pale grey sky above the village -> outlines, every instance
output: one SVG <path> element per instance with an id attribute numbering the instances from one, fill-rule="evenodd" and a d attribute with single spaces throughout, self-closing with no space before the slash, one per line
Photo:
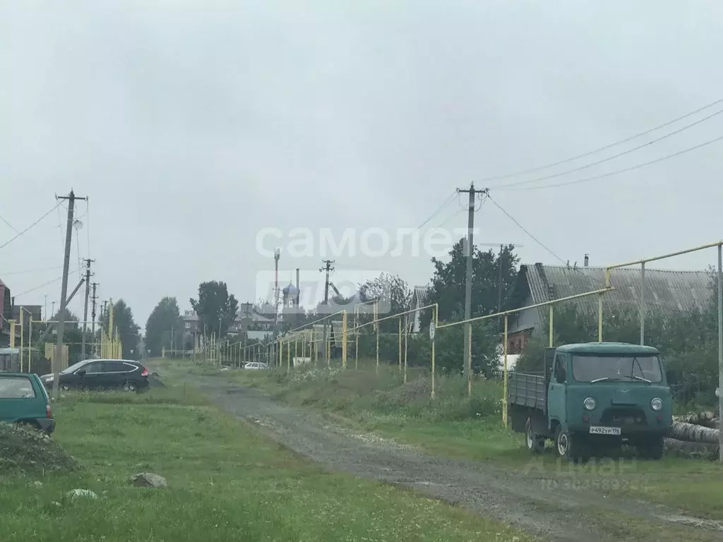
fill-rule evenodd
<path id="1" fill-rule="evenodd" d="M 125 298 L 142 326 L 162 296 L 187 308 L 203 280 L 225 280 L 239 301 L 252 301 L 273 270 L 256 248 L 260 228 L 317 236 L 332 228 L 341 238 L 345 228 L 379 227 L 394 238 L 455 187 L 585 165 L 719 111 L 723 104 L 558 168 L 480 181 L 723 98 L 722 25 L 714 0 L 2 0 L 0 216 L 22 230 L 55 205 L 54 194 L 89 196 L 87 214 L 79 203 L 72 285 L 78 255 L 90 254 L 100 297 Z M 525 186 L 606 173 L 721 135 L 723 115 Z M 646 257 L 723 237 L 722 148 L 491 195 L 562 259 Z M 453 200 L 428 225 L 463 226 L 459 209 Z M 0 278 L 15 295 L 59 277 L 59 220 L 54 211 L 0 249 Z M 523 262 L 559 263 L 492 202 L 476 220 L 480 242 L 523 244 Z M 14 235 L 0 222 L 0 245 Z M 282 282 L 296 267 L 318 275 L 321 259 L 282 254 Z M 432 274 L 424 254 L 335 260 L 338 274 L 388 270 L 412 285 Z M 715 260 L 711 249 L 657 267 Z M 46 270 L 20 273 L 36 269 Z M 45 296 L 48 308 L 59 301 L 59 281 L 16 303 Z M 82 296 L 71 309 L 82 314 Z"/>

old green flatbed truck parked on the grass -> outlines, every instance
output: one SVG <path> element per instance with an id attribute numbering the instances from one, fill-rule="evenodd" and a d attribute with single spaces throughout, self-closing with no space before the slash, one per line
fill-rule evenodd
<path id="1" fill-rule="evenodd" d="M 553 439 L 557 455 L 606 455 L 623 442 L 659 459 L 672 426 L 672 400 L 660 353 L 628 343 L 583 343 L 548 349 L 544 374 L 510 374 L 513 429 L 542 452 Z M 522 421 L 524 419 L 524 421 Z"/>

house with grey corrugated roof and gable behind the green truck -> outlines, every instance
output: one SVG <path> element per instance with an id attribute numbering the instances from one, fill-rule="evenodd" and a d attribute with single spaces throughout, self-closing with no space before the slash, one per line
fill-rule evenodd
<path id="1" fill-rule="evenodd" d="M 623 267 L 610 272 L 615 290 L 602 296 L 603 314 L 611 310 L 638 310 L 641 291 L 640 267 Z M 604 267 L 565 265 L 521 265 L 513 285 L 508 309 L 544 303 L 605 286 Z M 711 296 L 711 275 L 706 271 L 645 270 L 646 311 L 672 313 L 704 309 Z M 573 302 L 573 301 L 571 301 Z M 597 314 L 598 296 L 579 298 L 574 303 Z M 531 335 L 543 325 L 549 307 L 525 309 L 508 319 L 508 353 L 518 354 Z"/>

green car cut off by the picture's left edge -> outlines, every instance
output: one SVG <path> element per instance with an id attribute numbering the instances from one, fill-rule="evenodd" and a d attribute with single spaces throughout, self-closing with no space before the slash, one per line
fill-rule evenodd
<path id="1" fill-rule="evenodd" d="M 37 374 L 0 372 L 0 421 L 25 423 L 50 434 L 55 420 Z"/>

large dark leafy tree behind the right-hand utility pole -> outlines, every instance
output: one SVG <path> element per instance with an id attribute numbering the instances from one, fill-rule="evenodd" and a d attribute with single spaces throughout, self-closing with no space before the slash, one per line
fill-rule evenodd
<path id="1" fill-rule="evenodd" d="M 427 304 L 438 304 L 439 319 L 442 321 L 451 322 L 464 318 L 467 273 L 464 244 L 464 239 L 455 243 L 449 252 L 450 260 L 448 262 L 432 258 L 435 274 L 432 277 L 432 287 L 427 295 Z M 501 253 L 475 249 L 472 256 L 471 317 L 497 312 L 500 297 L 502 307 L 504 306 L 508 292 L 517 277 L 518 263 L 519 258 L 515 254 L 513 245 L 503 246 Z M 432 318 L 429 311 L 425 312 L 427 314 L 422 314 L 424 327 L 429 325 L 429 320 Z"/>

